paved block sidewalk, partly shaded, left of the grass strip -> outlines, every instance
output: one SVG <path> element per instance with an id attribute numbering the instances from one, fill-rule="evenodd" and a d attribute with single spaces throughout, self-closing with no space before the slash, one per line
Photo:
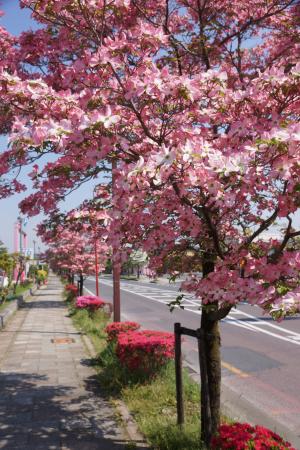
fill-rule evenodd
<path id="1" fill-rule="evenodd" d="M 50 275 L 0 332 L 0 449 L 124 449 L 61 292 Z"/>

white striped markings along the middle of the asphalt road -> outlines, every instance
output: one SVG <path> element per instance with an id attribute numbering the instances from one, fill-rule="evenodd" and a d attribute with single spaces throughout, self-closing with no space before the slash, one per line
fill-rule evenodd
<path id="1" fill-rule="evenodd" d="M 95 278 L 89 278 L 89 280 L 95 281 Z M 113 282 L 111 280 L 101 280 L 101 283 L 106 284 L 107 286 L 112 286 Z M 94 295 L 92 291 L 85 288 L 87 292 Z M 147 286 L 141 285 L 132 285 L 130 283 L 121 282 L 121 290 L 130 292 L 131 294 L 139 295 L 141 297 L 145 297 L 149 300 L 162 303 L 167 305 L 171 301 L 174 301 L 177 295 L 180 295 L 180 292 L 171 291 L 171 290 L 159 290 L 155 288 L 149 288 Z M 193 296 L 193 294 L 184 294 L 184 298 L 182 300 L 182 306 L 184 306 L 185 311 L 192 312 L 193 314 L 201 315 L 200 311 L 200 300 Z M 179 308 L 179 306 L 176 306 Z M 196 309 L 195 309 L 196 308 Z M 234 317 L 232 317 L 234 316 Z M 236 316 L 244 316 L 245 319 L 237 318 Z M 233 309 L 230 314 L 222 320 L 222 322 L 234 325 L 240 328 L 244 328 L 251 332 L 263 333 L 277 339 L 283 340 L 285 342 L 289 342 L 292 344 L 300 345 L 300 334 L 294 331 L 283 328 L 282 326 L 275 325 L 274 323 L 270 323 L 270 321 L 258 318 L 253 316 L 252 314 L 246 313 L 238 308 Z M 269 329 L 265 329 L 268 328 Z M 281 334 L 279 334 L 279 332 Z M 286 334 L 286 336 L 284 335 Z"/>

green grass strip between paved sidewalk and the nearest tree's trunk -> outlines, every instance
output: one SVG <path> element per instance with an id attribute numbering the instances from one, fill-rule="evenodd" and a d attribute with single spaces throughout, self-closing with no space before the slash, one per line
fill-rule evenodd
<path id="1" fill-rule="evenodd" d="M 86 333 L 98 357 L 93 361 L 98 372 L 101 394 L 111 401 L 125 402 L 140 431 L 152 448 L 157 450 L 201 450 L 199 431 L 199 386 L 184 371 L 184 427 L 176 425 L 176 391 L 174 362 L 169 363 L 154 379 L 137 380 L 125 371 L 107 345 L 105 326 L 107 315 L 101 310 L 89 315 L 70 306 L 75 326 Z"/>

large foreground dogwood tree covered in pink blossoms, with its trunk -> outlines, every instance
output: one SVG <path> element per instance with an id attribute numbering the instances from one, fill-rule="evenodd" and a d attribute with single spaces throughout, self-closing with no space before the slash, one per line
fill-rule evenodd
<path id="1" fill-rule="evenodd" d="M 77 186 L 114 169 L 108 241 L 154 269 L 174 247 L 201 254 L 209 402 L 220 420 L 219 320 L 245 298 L 280 319 L 299 311 L 299 6 L 293 0 L 23 0 L 27 77 L 2 71 L 15 114 L 5 167 L 36 165 L 22 202 L 52 217 Z M 299 49 L 298 49 L 299 50 Z M 275 239 L 265 232 L 278 224 Z M 211 420 L 209 419 L 211 416 Z"/>

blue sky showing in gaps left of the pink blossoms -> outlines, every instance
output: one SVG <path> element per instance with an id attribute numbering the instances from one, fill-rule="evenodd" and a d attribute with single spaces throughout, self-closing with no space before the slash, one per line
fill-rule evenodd
<path id="1" fill-rule="evenodd" d="M 11 34 L 18 35 L 22 31 L 37 28 L 36 24 L 30 18 L 30 12 L 26 9 L 19 8 L 18 0 L 0 0 L 0 10 L 4 11 L 5 15 L 0 18 L 0 24 L 6 28 Z M 7 146 L 7 138 L 0 136 L 0 151 Z M 22 170 L 20 181 L 28 186 L 28 191 L 32 192 L 30 183 L 28 182 L 27 174 L 31 171 L 30 167 L 25 167 Z M 92 196 L 92 191 L 95 183 L 87 183 L 78 191 L 70 195 L 67 200 L 62 203 L 61 209 L 69 210 L 76 207 L 85 198 Z M 13 226 L 19 215 L 19 202 L 26 196 L 26 193 L 14 195 L 7 199 L 0 200 L 0 240 L 4 242 L 5 246 L 13 251 Z M 33 239 L 36 239 L 34 228 L 43 220 L 43 216 L 30 218 L 26 225 L 28 234 L 29 247 L 33 247 Z M 43 248 L 41 243 L 38 245 Z"/>

